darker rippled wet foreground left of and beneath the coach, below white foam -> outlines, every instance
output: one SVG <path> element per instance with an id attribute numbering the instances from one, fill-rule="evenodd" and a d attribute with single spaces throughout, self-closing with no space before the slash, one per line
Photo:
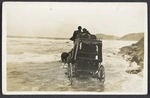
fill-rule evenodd
<path id="1" fill-rule="evenodd" d="M 74 78 L 74 85 L 70 85 L 70 81 L 65 75 L 66 67 L 63 68 L 59 61 L 8 63 L 7 65 L 9 91 L 95 91 L 95 82 L 98 83 L 96 79 L 92 81 L 89 78 Z M 101 89 L 99 88 L 99 91 Z"/>

